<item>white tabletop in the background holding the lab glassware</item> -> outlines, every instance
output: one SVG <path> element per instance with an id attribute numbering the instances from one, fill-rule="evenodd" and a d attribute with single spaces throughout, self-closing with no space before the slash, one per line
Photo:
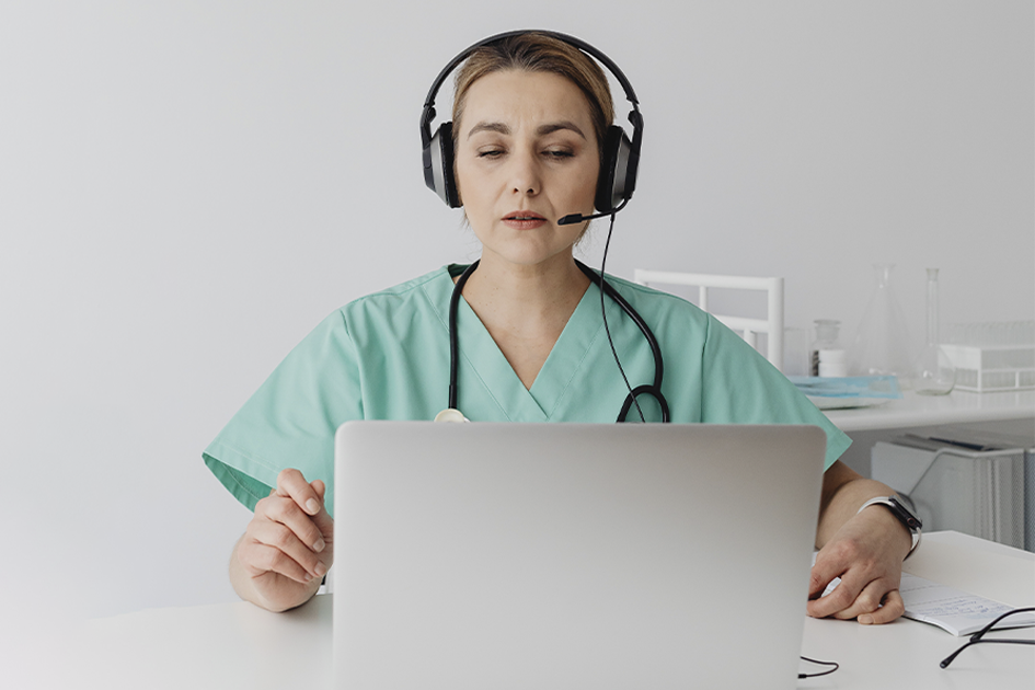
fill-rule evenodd
<path id="1" fill-rule="evenodd" d="M 842 432 L 899 429 L 971 422 L 1035 418 L 1035 391 L 918 395 L 906 391 L 901 400 L 876 407 L 829 410 L 826 415 Z"/>

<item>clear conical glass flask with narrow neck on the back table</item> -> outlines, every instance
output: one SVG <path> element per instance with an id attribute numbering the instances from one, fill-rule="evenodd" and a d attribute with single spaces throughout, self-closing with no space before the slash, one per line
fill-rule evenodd
<path id="1" fill-rule="evenodd" d="M 906 389 L 911 383 L 913 358 L 906 317 L 892 290 L 894 267 L 895 264 L 873 266 L 877 287 L 852 342 L 849 361 L 859 376 L 896 376 L 899 388 Z"/>

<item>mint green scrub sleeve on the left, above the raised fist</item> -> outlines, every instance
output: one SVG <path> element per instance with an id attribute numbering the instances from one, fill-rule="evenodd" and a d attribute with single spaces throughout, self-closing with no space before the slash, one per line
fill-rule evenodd
<path id="1" fill-rule="evenodd" d="M 336 311 L 299 343 L 202 453 L 205 464 L 250 509 L 277 474 L 296 468 L 327 484 L 333 506 L 334 433 L 363 418 L 356 350 Z"/>

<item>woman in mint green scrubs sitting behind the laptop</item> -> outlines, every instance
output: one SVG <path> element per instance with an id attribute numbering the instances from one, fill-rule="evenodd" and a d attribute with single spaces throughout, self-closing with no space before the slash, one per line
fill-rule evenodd
<path id="1" fill-rule="evenodd" d="M 452 127 L 442 131 L 455 151 L 455 205 L 463 205 L 483 245 L 460 285 L 456 317 L 459 407 L 474 421 L 612 422 L 626 394 L 599 288 L 573 257 L 586 221 L 557 222 L 591 214 L 595 197 L 601 206 L 597 181 L 612 120 L 603 72 L 555 35 L 494 41 L 457 74 Z M 336 311 L 206 449 L 208 467 L 255 511 L 230 564 L 242 598 L 277 611 L 299 606 L 331 567 L 325 482 L 340 424 L 430 419 L 445 406 L 449 302 L 462 271 L 449 266 Z M 608 281 L 662 336 L 662 392 L 672 422 L 826 430 L 821 551 L 808 612 L 861 623 L 899 617 L 897 587 L 912 539 L 884 506 L 860 509 L 892 492 L 837 461 L 847 437 L 713 318 L 672 296 Z M 606 309 L 630 381 L 649 380 L 654 359 L 637 326 L 613 301 Z M 642 406 L 646 421 L 659 413 Z M 835 577 L 841 585 L 818 599 Z"/>

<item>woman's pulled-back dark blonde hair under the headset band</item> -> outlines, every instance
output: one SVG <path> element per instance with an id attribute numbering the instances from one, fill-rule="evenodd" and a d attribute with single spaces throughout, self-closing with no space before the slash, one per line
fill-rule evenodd
<path id="1" fill-rule="evenodd" d="M 452 101 L 453 145 L 471 84 L 492 72 L 504 70 L 549 72 L 574 83 L 589 103 L 597 148 L 602 151 L 608 127 L 614 122 L 614 102 L 607 76 L 600 66 L 575 46 L 548 34 L 529 32 L 507 36 L 475 49 L 457 71 Z"/>

